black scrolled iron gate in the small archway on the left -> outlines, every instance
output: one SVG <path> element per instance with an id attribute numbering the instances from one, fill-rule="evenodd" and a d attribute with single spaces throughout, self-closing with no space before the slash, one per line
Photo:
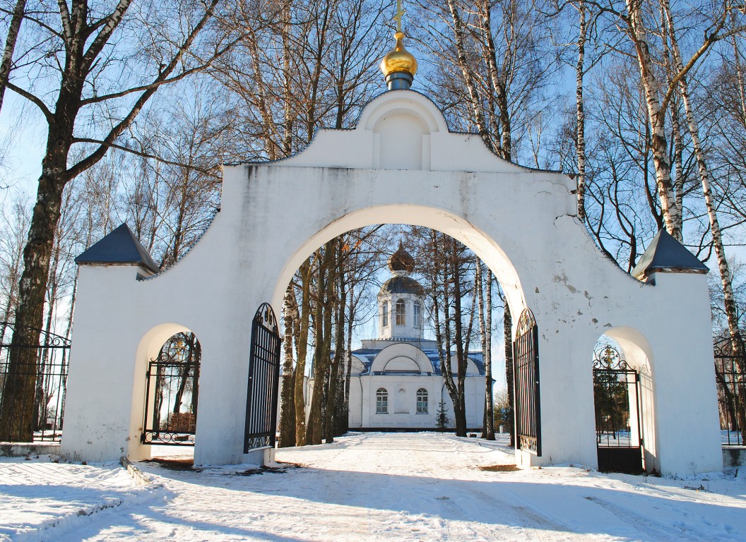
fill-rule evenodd
<path id="1" fill-rule="evenodd" d="M 195 335 L 177 333 L 148 363 L 142 444 L 194 446 L 200 362 Z"/>

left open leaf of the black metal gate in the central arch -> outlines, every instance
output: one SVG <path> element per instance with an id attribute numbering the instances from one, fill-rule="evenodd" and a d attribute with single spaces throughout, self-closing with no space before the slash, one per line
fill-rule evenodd
<path id="1" fill-rule="evenodd" d="M 275 312 L 272 311 L 269 303 L 262 303 L 251 324 L 243 453 L 257 448 L 275 446 L 280 384 L 280 344 Z"/>

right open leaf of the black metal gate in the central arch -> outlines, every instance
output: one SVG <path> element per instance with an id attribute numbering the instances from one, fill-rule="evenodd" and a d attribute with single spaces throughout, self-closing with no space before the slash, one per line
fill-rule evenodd
<path id="1" fill-rule="evenodd" d="M 513 343 L 515 443 L 518 449 L 542 456 L 539 410 L 539 332 L 530 309 L 518 318 Z"/>

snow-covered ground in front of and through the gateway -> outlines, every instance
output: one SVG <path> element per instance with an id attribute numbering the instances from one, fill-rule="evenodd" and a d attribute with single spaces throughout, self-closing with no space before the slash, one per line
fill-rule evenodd
<path id="1" fill-rule="evenodd" d="M 746 476 L 513 470 L 504 442 L 349 435 L 277 469 L 0 460 L 0 540 L 746 541 Z M 492 467 L 481 470 L 480 467 Z"/>

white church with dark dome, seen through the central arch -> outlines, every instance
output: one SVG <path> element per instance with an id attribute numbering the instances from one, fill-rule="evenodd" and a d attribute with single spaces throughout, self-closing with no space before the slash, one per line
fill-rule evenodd
<path id="1" fill-rule="evenodd" d="M 393 276 L 378 292 L 378 337 L 364 339 L 362 347 L 351 353 L 350 429 L 439 429 L 441 403 L 448 418 L 445 426 L 454 426 L 453 403 L 440 367 L 445 353 L 435 340 L 424 337 L 425 292 L 410 277 L 414 268 L 413 257 L 400 243 L 389 258 Z M 451 368 L 455 373 L 455 355 Z M 483 426 L 484 374 L 482 353 L 468 353 L 464 382 L 468 430 Z"/>

